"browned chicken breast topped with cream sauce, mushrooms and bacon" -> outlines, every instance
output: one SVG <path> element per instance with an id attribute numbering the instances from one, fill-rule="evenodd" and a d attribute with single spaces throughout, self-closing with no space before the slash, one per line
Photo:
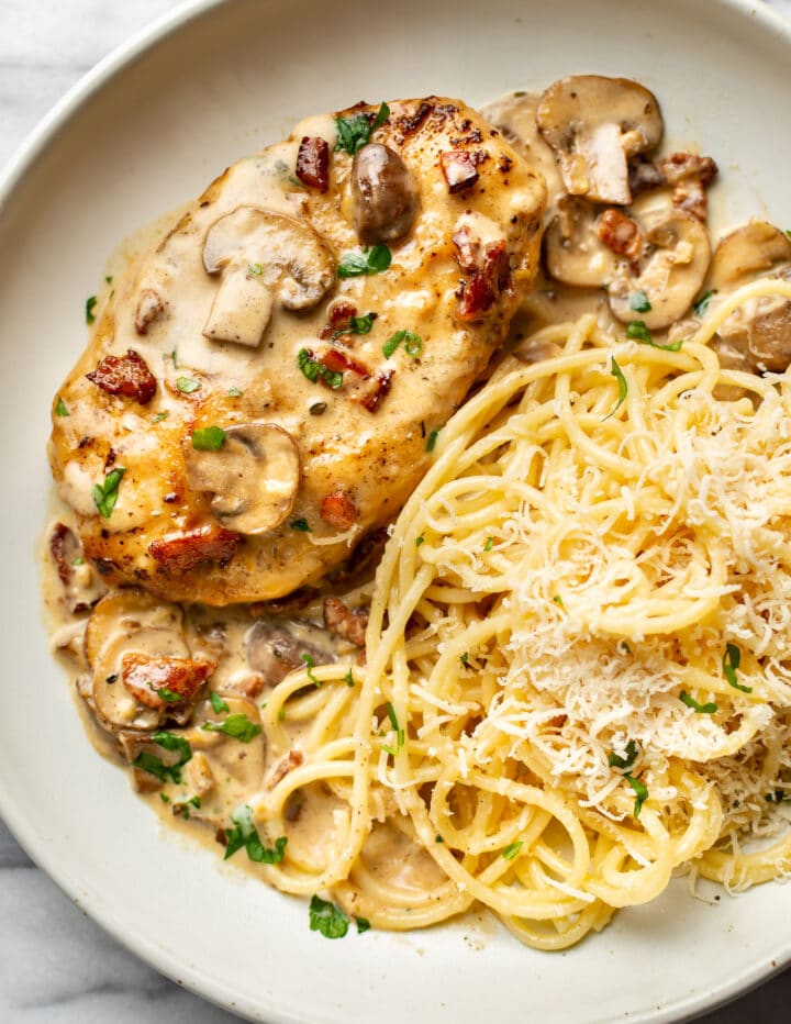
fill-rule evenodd
<path id="1" fill-rule="evenodd" d="M 53 402 L 110 583 L 267 600 L 391 521 L 530 290 L 545 187 L 457 100 L 358 104 L 230 167 L 123 277 Z"/>

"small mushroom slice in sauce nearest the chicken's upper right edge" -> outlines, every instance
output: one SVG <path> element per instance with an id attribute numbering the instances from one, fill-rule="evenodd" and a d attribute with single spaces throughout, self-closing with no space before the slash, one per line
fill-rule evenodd
<path id="1" fill-rule="evenodd" d="M 597 211 L 584 199 L 565 196 L 544 236 L 547 270 L 558 281 L 599 288 L 615 272 L 615 255 L 599 237 Z"/>

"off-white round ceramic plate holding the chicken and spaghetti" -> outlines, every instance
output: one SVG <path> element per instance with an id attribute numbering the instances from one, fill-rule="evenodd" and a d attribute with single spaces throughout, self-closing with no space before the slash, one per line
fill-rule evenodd
<path id="1" fill-rule="evenodd" d="M 163 832 L 90 747 L 42 626 L 36 536 L 51 396 L 83 344 L 105 256 L 299 118 L 360 98 L 472 104 L 561 75 L 638 78 L 675 141 L 716 157 L 721 222 L 791 224 L 791 32 L 740 0 L 232 0 L 194 4 L 104 62 L 0 187 L 4 528 L 0 811 L 121 942 L 209 999 L 269 1022 L 554 1024 L 678 1020 L 791 958 L 791 889 L 716 905 L 682 883 L 562 955 L 486 919 L 330 943 L 307 905 Z"/>

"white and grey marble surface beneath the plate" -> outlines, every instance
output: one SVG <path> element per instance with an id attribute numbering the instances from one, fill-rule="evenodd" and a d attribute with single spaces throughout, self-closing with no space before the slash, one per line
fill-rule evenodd
<path id="1" fill-rule="evenodd" d="M 791 16 L 791 0 L 772 0 Z M 0 165 L 56 100 L 175 0 L 0 0 Z M 791 970 L 702 1019 L 787 1024 Z M 222 1024 L 94 925 L 0 822 L 1 1024 Z"/>

